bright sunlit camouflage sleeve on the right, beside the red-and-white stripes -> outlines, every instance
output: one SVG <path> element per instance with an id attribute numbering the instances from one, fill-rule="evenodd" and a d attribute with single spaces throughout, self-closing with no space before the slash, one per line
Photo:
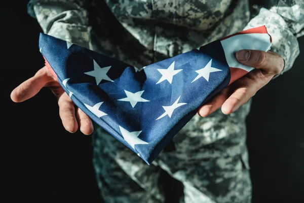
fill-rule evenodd
<path id="1" fill-rule="evenodd" d="M 285 65 L 283 74 L 291 69 L 299 55 L 297 37 L 304 35 L 304 1 L 264 1 L 264 8 L 252 18 L 244 29 L 265 25 L 272 36 L 271 51 L 281 55 Z M 278 76 L 278 75 L 277 75 Z M 276 78 L 275 76 L 274 78 Z"/>

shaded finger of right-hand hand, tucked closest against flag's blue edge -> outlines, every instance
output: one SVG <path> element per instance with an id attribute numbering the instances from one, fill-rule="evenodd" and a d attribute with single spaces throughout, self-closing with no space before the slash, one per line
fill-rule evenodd
<path id="1" fill-rule="evenodd" d="M 199 116 L 206 117 L 213 112 L 215 112 L 217 109 L 219 109 L 222 104 L 225 102 L 225 100 L 229 97 L 229 88 L 226 87 L 222 91 L 219 92 L 218 95 L 213 97 L 207 104 L 203 105 L 200 110 L 198 111 Z"/>

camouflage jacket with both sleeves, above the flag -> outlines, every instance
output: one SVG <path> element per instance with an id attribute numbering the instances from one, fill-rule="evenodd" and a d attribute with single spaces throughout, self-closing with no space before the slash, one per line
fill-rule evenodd
<path id="1" fill-rule="evenodd" d="M 49 35 L 137 67 L 264 24 L 283 74 L 304 34 L 302 0 L 31 0 L 28 13 Z"/>

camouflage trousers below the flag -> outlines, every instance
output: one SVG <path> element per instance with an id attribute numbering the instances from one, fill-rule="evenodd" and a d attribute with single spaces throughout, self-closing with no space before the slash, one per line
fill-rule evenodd
<path id="1" fill-rule="evenodd" d="M 250 202 L 249 107 L 250 101 L 230 116 L 220 110 L 206 119 L 196 115 L 150 166 L 96 128 L 93 163 L 105 202 L 164 202 L 161 170 L 183 183 L 180 202 Z"/>

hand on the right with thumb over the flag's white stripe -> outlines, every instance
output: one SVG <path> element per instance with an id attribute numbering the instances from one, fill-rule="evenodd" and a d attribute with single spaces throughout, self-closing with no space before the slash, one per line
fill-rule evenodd
<path id="1" fill-rule="evenodd" d="M 198 112 L 200 116 L 206 117 L 220 107 L 224 114 L 235 112 L 284 67 L 283 58 L 271 51 L 240 50 L 236 58 L 240 63 L 255 67 L 255 70 L 224 88 L 203 105 Z"/>

